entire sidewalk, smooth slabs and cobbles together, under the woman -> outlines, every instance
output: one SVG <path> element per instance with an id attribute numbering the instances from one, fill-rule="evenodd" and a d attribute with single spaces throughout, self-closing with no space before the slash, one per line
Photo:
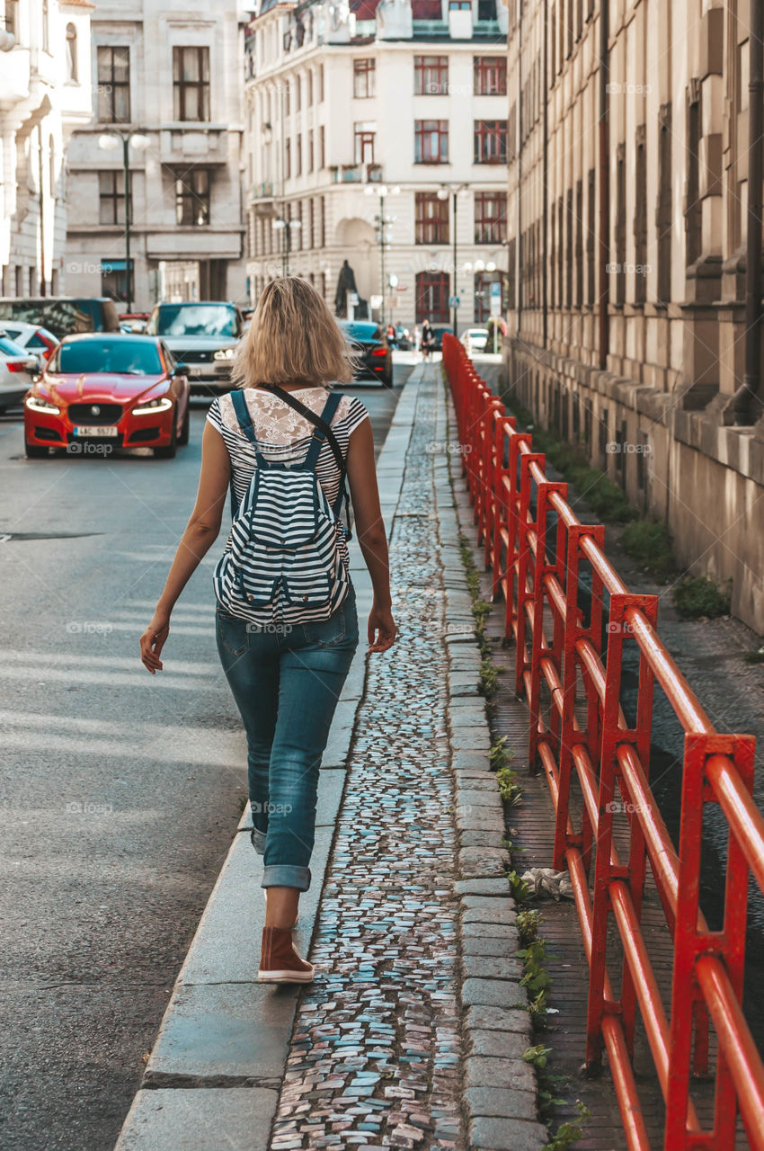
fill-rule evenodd
<path id="1" fill-rule="evenodd" d="M 395 648 L 359 651 L 319 782 L 297 942 L 258 983 L 261 863 L 242 820 L 116 1151 L 538 1151 L 504 816 L 440 365 L 411 374 L 377 472 Z M 359 615 L 370 605 L 353 544 Z"/>

